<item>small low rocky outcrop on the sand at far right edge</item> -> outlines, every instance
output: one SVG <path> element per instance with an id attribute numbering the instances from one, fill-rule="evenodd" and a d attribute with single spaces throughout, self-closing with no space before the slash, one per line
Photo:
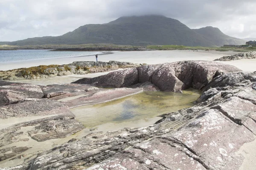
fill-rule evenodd
<path id="1" fill-rule="evenodd" d="M 215 59 L 214 61 L 232 61 L 237 59 L 255 59 L 256 58 L 256 51 L 244 52 L 235 54 L 232 56 L 224 56 L 219 59 Z"/>

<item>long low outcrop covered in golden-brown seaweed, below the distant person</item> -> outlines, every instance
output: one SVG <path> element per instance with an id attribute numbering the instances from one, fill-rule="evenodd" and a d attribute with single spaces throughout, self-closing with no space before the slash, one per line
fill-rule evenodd
<path id="1" fill-rule="evenodd" d="M 64 76 L 70 74 L 88 74 L 105 71 L 117 70 L 119 68 L 133 68 L 140 64 L 131 62 L 93 62 L 80 61 L 73 62 L 67 65 L 39 65 L 30 68 L 19 68 L 9 71 L 0 71 L 1 80 L 15 80 L 15 79 L 38 79 L 46 77 Z"/>

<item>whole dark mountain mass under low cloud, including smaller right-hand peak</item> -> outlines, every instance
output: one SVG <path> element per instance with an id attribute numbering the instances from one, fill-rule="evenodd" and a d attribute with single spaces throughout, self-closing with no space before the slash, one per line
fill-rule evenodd
<path id="1" fill-rule="evenodd" d="M 80 26 L 76 30 L 58 37 L 35 37 L 8 44 L 111 43 L 119 45 L 187 46 L 221 46 L 235 42 L 237 42 L 236 44 L 241 44 L 240 39 L 229 37 L 219 30 L 212 34 L 207 32 L 208 28 L 193 30 L 172 18 L 160 15 L 147 15 L 140 17 L 120 17 L 106 24 L 87 24 Z"/>

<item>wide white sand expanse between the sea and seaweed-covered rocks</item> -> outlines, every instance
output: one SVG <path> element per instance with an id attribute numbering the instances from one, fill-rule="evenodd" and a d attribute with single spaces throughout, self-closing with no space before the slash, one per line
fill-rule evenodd
<path id="1" fill-rule="evenodd" d="M 223 56 L 236 54 L 233 51 L 188 51 L 188 50 L 172 50 L 172 51 L 112 51 L 113 54 L 99 55 L 98 60 L 108 62 L 110 60 L 158 64 L 164 62 L 175 62 L 181 60 L 208 60 L 212 61 Z M 74 61 L 95 61 L 95 56 L 86 57 L 70 57 L 62 59 L 44 59 L 37 61 L 23 62 L 0 62 L 0 70 L 11 70 L 15 68 L 32 67 L 37 65 L 52 64 L 69 64 Z"/>

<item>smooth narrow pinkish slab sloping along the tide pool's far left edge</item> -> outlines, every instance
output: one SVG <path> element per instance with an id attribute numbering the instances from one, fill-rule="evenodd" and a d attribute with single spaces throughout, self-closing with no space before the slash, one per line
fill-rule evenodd
<path id="1" fill-rule="evenodd" d="M 143 88 L 113 88 L 105 91 L 99 91 L 88 96 L 82 96 L 73 100 L 64 101 L 63 103 L 70 108 L 74 108 L 83 105 L 93 105 L 108 102 L 141 92 L 143 92 Z"/>

